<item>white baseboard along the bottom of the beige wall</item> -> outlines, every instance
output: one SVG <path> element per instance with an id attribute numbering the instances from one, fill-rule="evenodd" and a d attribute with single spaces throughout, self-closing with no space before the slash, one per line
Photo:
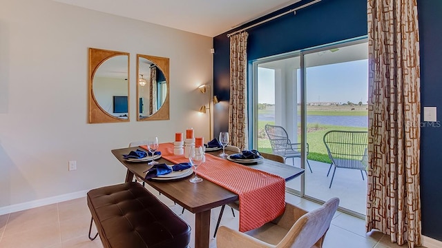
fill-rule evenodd
<path id="1" fill-rule="evenodd" d="M 27 203 L 19 203 L 15 205 L 9 205 L 6 207 L 0 207 L 0 216 L 3 214 L 10 214 L 16 211 L 26 210 L 26 209 L 32 209 L 34 207 L 41 207 L 45 205 L 50 205 L 54 203 L 60 203 L 66 200 L 73 200 L 77 198 L 81 198 L 86 196 L 86 193 L 88 190 L 83 190 L 80 192 L 73 192 L 69 194 L 59 195 L 59 196 L 53 196 L 49 198 L 39 199 L 39 200 L 32 200 Z"/>

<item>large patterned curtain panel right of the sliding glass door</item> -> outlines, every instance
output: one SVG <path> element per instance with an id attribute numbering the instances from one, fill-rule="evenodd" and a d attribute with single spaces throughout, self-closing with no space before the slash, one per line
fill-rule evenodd
<path id="1" fill-rule="evenodd" d="M 416 0 L 368 0 L 367 231 L 422 245 L 420 64 Z"/>

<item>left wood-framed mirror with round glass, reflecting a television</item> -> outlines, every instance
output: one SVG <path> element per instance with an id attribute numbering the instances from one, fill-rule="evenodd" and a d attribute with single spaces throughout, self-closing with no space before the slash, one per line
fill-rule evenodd
<path id="1" fill-rule="evenodd" d="M 129 53 L 89 48 L 89 123 L 128 122 Z"/>

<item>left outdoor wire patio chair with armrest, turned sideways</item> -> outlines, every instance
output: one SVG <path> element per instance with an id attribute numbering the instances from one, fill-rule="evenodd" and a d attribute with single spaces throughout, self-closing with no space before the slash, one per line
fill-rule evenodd
<path id="1" fill-rule="evenodd" d="M 265 132 L 270 140 L 271 149 L 273 154 L 282 156 L 284 163 L 287 158 L 291 158 L 293 165 L 295 165 L 295 158 L 301 157 L 301 143 L 291 143 L 289 134 L 285 131 L 284 127 L 278 125 L 265 125 Z M 309 155 L 309 143 L 305 147 L 307 156 Z M 306 159 L 310 172 L 311 167 L 308 159 Z"/>

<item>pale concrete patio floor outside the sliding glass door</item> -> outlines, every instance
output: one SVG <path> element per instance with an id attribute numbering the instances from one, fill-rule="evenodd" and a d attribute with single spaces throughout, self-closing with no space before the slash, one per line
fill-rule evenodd
<path id="1" fill-rule="evenodd" d="M 291 158 L 287 159 L 287 164 L 292 165 Z M 317 161 L 309 161 L 311 170 L 306 164 L 305 169 L 305 194 L 320 200 L 328 200 L 334 196 L 340 199 L 340 207 L 356 211 L 365 215 L 367 201 L 367 176 L 364 172 L 365 180 L 362 180 L 361 171 L 356 169 L 336 168 L 332 187 L 329 189 L 332 180 L 333 169 L 329 170 L 329 164 Z M 300 167 L 300 159 L 295 158 L 295 166 Z M 300 190 L 300 178 L 287 182 L 287 187 Z"/>

